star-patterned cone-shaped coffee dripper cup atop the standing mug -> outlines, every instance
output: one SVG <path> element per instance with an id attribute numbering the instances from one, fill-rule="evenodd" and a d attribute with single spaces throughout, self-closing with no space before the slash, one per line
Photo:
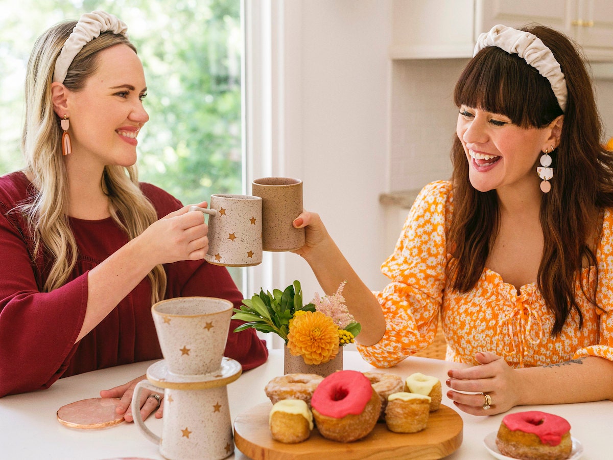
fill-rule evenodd
<path id="1" fill-rule="evenodd" d="M 215 297 L 177 297 L 151 307 L 162 355 L 172 374 L 219 370 L 232 307 L 232 302 Z"/>

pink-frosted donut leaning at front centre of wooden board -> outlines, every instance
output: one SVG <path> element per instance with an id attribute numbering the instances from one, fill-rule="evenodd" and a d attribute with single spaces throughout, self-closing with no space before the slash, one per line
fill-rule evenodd
<path id="1" fill-rule="evenodd" d="M 319 434 L 340 442 L 362 439 L 375 427 L 381 399 L 357 370 L 339 370 L 324 378 L 311 399 Z"/>

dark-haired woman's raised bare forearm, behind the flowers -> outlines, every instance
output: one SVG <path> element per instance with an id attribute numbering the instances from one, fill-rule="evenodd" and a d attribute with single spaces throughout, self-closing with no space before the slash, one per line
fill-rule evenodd
<path id="1" fill-rule="evenodd" d="M 345 303 L 349 312 L 362 326 L 362 332 L 356 338 L 357 342 L 363 345 L 379 342 L 386 327 L 381 305 L 349 265 L 336 243 L 327 238 L 303 257 L 326 294 L 335 293 L 340 283 L 347 282 L 343 289 Z"/>

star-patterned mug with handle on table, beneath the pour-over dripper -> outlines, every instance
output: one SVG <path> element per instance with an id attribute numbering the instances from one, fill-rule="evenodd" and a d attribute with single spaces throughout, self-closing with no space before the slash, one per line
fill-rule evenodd
<path id="1" fill-rule="evenodd" d="M 143 388 L 164 393 L 162 435 L 154 434 L 140 416 Z M 158 388 L 147 380 L 134 388 L 134 424 L 169 460 L 221 460 L 234 453 L 226 386 L 206 389 Z"/>

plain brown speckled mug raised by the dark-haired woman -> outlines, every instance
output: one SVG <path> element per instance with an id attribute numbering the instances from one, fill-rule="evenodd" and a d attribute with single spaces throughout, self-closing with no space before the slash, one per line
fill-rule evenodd
<path id="1" fill-rule="evenodd" d="M 302 180 L 263 177 L 251 183 L 251 193 L 262 197 L 262 247 L 265 251 L 292 251 L 305 243 L 303 228 L 292 222 L 302 213 Z"/>

